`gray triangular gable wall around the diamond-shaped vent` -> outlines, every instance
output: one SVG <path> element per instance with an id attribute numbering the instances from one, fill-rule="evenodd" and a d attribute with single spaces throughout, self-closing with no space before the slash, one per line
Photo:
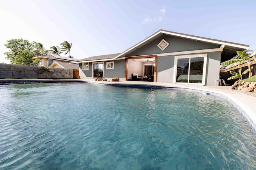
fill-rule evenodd
<path id="1" fill-rule="evenodd" d="M 160 43 L 162 39 L 165 39 L 169 45 L 166 47 L 164 51 L 162 51 L 157 45 Z M 180 52 L 180 51 L 192 51 L 192 50 L 202 50 L 202 49 L 214 49 L 219 48 L 220 45 L 204 43 L 200 41 L 194 41 L 190 39 L 172 37 L 172 36 L 164 36 L 159 37 L 148 43 L 144 47 L 132 52 L 128 56 L 138 56 L 138 55 L 152 55 L 152 54 L 160 54 L 160 53 L 172 53 L 172 52 Z"/>

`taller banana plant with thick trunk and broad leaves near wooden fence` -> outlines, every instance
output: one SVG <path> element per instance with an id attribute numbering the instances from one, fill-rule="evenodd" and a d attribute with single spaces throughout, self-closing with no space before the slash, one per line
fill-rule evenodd
<path id="1" fill-rule="evenodd" d="M 247 51 L 247 52 L 236 51 L 238 56 L 236 56 L 236 57 L 234 57 L 234 58 L 232 58 L 228 61 L 225 61 L 225 62 L 221 63 L 221 65 L 224 66 L 225 68 L 231 68 L 233 66 L 237 66 L 237 65 L 240 65 L 240 64 L 243 64 L 243 63 L 247 63 L 248 72 L 249 72 L 248 77 L 250 78 L 252 76 L 251 64 L 252 64 L 252 61 L 256 62 L 256 55 L 250 56 L 250 53 L 248 53 L 248 52 L 249 51 Z"/>

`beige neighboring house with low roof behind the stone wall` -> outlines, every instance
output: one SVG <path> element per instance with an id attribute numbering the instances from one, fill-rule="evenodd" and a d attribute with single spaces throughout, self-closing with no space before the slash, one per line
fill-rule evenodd
<path id="1" fill-rule="evenodd" d="M 71 61 L 78 60 L 78 59 L 73 59 L 69 57 L 62 57 L 59 55 L 43 55 L 43 56 L 37 56 L 32 58 L 32 60 L 36 60 L 36 59 L 39 59 L 38 66 L 45 66 L 45 67 L 49 67 L 52 63 L 54 63 L 54 61 L 69 63 Z"/>

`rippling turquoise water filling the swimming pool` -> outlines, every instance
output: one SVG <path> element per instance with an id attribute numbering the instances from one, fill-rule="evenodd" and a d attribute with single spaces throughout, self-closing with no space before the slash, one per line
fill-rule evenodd
<path id="1" fill-rule="evenodd" d="M 0 96 L 0 169 L 256 168 L 253 129 L 213 95 L 58 83 Z"/>

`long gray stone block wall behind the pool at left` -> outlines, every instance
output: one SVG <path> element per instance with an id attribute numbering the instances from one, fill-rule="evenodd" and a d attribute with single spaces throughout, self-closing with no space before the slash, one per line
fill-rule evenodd
<path id="1" fill-rule="evenodd" d="M 73 69 L 50 68 L 44 71 L 38 66 L 0 64 L 0 78 L 73 78 Z"/>

